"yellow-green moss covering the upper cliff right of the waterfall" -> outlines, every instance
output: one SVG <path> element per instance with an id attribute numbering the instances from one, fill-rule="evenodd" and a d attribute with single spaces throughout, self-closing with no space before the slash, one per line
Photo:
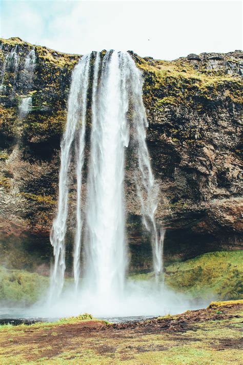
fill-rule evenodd
<path id="1" fill-rule="evenodd" d="M 144 73 L 144 102 L 150 109 L 164 111 L 166 106 L 194 107 L 203 112 L 218 100 L 242 103 L 240 76 L 194 69 L 187 59 L 137 62 Z"/>

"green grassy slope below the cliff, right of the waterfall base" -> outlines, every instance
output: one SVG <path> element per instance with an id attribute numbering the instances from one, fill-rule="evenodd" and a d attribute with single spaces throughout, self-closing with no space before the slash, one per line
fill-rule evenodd
<path id="1" fill-rule="evenodd" d="M 243 251 L 212 252 L 165 268 L 165 283 L 193 298 L 241 299 Z M 152 279 L 153 273 L 132 276 Z"/>

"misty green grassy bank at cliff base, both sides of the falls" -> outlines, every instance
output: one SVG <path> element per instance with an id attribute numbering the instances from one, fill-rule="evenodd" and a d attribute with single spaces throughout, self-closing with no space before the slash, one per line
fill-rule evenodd
<path id="1" fill-rule="evenodd" d="M 243 251 L 212 252 L 165 268 L 165 283 L 191 298 L 242 299 Z M 153 280 L 154 273 L 132 275 L 133 280 Z M 67 279 L 68 280 L 68 279 Z M 70 279 L 71 280 L 71 279 Z M 0 266 L 0 300 L 32 304 L 47 290 L 49 278 Z"/>

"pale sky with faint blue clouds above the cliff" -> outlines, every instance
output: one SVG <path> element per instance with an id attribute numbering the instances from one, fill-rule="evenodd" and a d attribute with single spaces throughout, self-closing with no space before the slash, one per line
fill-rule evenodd
<path id="1" fill-rule="evenodd" d="M 239 1 L 0 0 L 0 36 L 67 53 L 133 50 L 174 60 L 242 49 Z"/>

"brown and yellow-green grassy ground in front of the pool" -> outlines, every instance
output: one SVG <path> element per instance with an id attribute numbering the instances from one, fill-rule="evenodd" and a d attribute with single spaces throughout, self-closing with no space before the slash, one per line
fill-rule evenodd
<path id="1" fill-rule="evenodd" d="M 242 363 L 243 300 L 149 321 L 98 320 L 2 326 L 1 364 Z"/>

